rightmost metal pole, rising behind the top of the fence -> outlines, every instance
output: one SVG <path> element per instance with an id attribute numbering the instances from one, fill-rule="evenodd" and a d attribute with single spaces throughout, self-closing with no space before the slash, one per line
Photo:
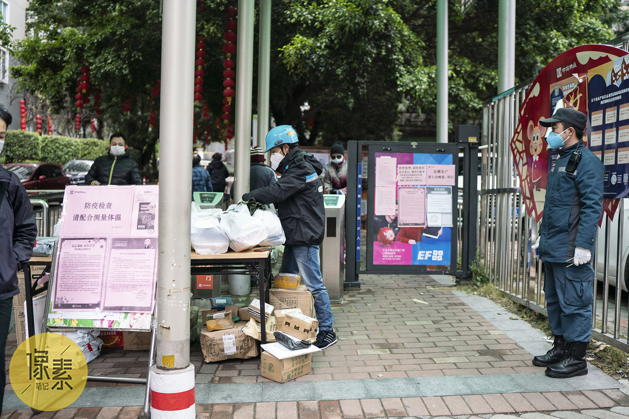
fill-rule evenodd
<path id="1" fill-rule="evenodd" d="M 498 2 L 498 93 L 515 84 L 515 0 Z"/>

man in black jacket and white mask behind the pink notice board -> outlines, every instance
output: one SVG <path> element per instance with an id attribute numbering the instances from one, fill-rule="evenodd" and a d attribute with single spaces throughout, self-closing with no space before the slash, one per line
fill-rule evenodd
<path id="1" fill-rule="evenodd" d="M 111 134 L 109 152 L 94 160 L 85 177 L 85 184 L 142 185 L 138 163 L 129 157 L 123 133 Z"/>

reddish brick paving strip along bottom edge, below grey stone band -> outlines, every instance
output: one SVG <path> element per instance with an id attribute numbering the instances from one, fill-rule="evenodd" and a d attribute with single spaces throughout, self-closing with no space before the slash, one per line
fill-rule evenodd
<path id="1" fill-rule="evenodd" d="M 559 416 L 580 418 L 581 409 L 614 408 L 629 406 L 629 396 L 617 389 L 564 391 L 553 393 L 504 393 L 475 396 L 383 398 L 362 400 L 280 401 L 265 403 L 234 403 L 197 405 L 199 419 L 333 419 L 383 418 L 406 416 L 457 416 L 487 415 L 492 413 L 522 413 L 532 411 L 574 413 Z M 604 410 L 609 416 L 618 418 Z M 30 410 L 4 411 L 1 419 L 136 419 L 142 413 L 140 406 L 63 409 L 33 416 Z M 616 414 L 617 415 L 617 414 Z M 469 416 L 463 416 L 469 417 Z M 533 419 L 533 418 L 532 418 Z M 542 418 L 537 418 L 542 419 Z"/>

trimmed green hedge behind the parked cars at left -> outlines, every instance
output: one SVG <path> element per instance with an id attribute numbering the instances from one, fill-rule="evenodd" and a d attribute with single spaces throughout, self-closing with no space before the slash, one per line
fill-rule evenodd
<path id="1" fill-rule="evenodd" d="M 2 153 L 4 163 L 26 160 L 64 165 L 70 160 L 96 160 L 107 154 L 109 142 L 95 138 L 38 135 L 30 131 L 9 130 Z M 140 151 L 129 147 L 130 157 L 139 161 Z"/>

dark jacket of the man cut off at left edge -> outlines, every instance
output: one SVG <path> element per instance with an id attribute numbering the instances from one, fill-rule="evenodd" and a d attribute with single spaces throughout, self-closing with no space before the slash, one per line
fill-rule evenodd
<path id="1" fill-rule="evenodd" d="M 37 225 L 18 177 L 0 166 L 0 182 L 8 183 L 0 200 L 0 300 L 4 300 L 19 293 L 17 274 L 33 254 Z"/>

